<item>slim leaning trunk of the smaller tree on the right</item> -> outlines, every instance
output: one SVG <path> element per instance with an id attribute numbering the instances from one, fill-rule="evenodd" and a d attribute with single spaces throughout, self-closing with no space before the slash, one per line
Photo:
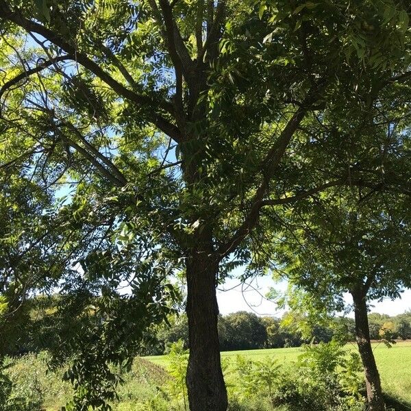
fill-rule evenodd
<path id="1" fill-rule="evenodd" d="M 362 360 L 365 373 L 366 397 L 370 411 L 384 411 L 384 400 L 382 397 L 381 381 L 373 349 L 371 347 L 368 314 L 366 310 L 366 296 L 364 292 L 351 292 L 354 301 L 354 312 L 356 316 L 356 340 L 358 351 Z"/>

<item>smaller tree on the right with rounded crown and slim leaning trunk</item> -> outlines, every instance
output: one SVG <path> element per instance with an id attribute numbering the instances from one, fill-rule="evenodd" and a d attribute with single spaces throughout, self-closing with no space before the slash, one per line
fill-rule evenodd
<path id="1" fill-rule="evenodd" d="M 343 196 L 323 193 L 296 211 L 291 231 L 284 234 L 283 251 L 277 254 L 292 284 L 308 290 L 307 301 L 314 298 L 314 306 L 341 310 L 343 292 L 353 297 L 371 410 L 384 410 L 384 401 L 371 348 L 367 300 L 394 299 L 403 286 L 410 286 L 408 202 L 397 193 L 373 195 L 371 203 L 354 190 Z M 393 329 L 394 323 L 386 321 L 379 336 L 386 338 Z"/>

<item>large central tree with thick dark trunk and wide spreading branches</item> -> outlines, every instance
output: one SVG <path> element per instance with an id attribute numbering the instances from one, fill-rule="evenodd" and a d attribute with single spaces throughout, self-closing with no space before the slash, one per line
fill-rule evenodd
<path id="1" fill-rule="evenodd" d="M 71 243 L 83 233 L 78 260 L 106 299 L 131 281 L 163 301 L 160 284 L 184 271 L 191 410 L 227 408 L 215 286 L 253 269 L 264 214 L 330 186 L 381 188 L 374 171 L 329 164 L 321 153 L 340 137 L 309 129 L 330 113 L 371 121 L 385 90 L 408 84 L 409 12 L 393 1 L 0 1 L 3 146 L 27 147 L 5 165 L 23 156 L 49 190 L 69 183 L 64 228 Z"/>

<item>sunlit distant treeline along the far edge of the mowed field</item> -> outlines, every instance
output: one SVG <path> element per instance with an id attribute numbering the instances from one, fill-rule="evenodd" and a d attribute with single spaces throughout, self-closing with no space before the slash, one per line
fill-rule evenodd
<path id="1" fill-rule="evenodd" d="M 284 325 L 283 319 L 272 316 L 257 316 L 252 312 L 239 311 L 219 317 L 219 338 L 222 351 L 241 349 L 262 349 L 299 347 L 304 343 L 323 341 L 329 342 L 334 335 L 343 335 L 349 341 L 355 340 L 354 320 L 348 317 L 336 317 L 328 326 L 315 325 L 312 327 L 310 338 L 303 338 L 295 324 Z M 386 314 L 369 314 L 371 338 L 411 338 L 411 312 L 397 316 Z M 182 339 L 188 347 L 188 324 L 184 314 L 173 316 L 170 326 L 158 329 L 155 342 L 147 346 L 147 353 L 160 354 L 167 351 L 171 343 Z"/>

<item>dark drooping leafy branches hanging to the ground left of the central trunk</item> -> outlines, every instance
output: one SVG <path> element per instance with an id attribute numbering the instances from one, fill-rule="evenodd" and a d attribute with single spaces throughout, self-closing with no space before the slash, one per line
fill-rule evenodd
<path id="1" fill-rule="evenodd" d="M 134 288 L 132 297 L 107 299 L 103 296 L 90 307 L 96 311 L 99 321 L 93 317 L 94 327 L 79 330 L 81 340 L 66 342 L 69 352 L 75 353 L 74 364 L 64 374 L 64 379 L 71 381 L 75 388 L 67 410 L 85 406 L 111 409 L 107 401 L 116 398 L 115 389 L 121 381 L 113 366 L 129 369 L 131 359 L 138 352 L 136 341 L 142 340 L 143 332 L 153 323 L 164 319 L 167 307 L 164 306 L 163 312 L 158 310 L 164 298 L 162 292 L 160 284 L 147 281 L 140 290 Z"/>

